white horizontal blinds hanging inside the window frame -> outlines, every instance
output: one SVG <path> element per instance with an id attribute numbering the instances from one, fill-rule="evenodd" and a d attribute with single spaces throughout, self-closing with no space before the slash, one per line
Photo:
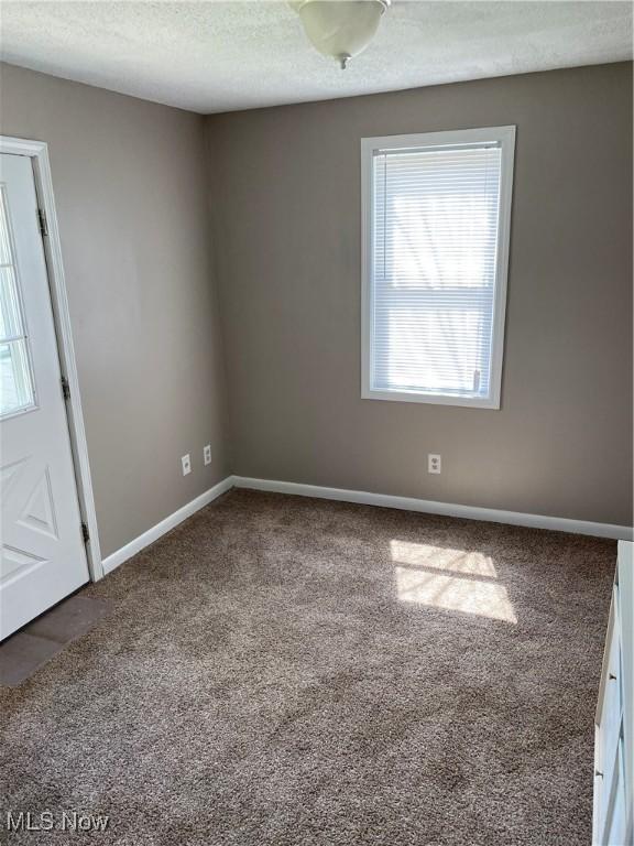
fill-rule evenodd
<path id="1" fill-rule="evenodd" d="M 500 144 L 375 151 L 371 387 L 488 397 Z"/>

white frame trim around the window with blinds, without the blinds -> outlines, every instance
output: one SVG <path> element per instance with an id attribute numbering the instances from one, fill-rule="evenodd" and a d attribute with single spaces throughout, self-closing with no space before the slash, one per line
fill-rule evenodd
<path id="1" fill-rule="evenodd" d="M 373 313 L 373 156 L 378 150 L 398 150 L 447 144 L 496 142 L 501 148 L 500 214 L 498 221 L 498 256 L 493 291 L 491 379 L 489 397 L 470 398 L 424 393 L 420 391 L 380 391 L 371 388 L 372 313 Z M 449 132 L 424 132 L 408 135 L 383 135 L 361 139 L 361 398 L 393 402 L 423 402 L 435 405 L 462 405 L 499 409 L 501 401 L 502 364 L 504 355 L 504 323 L 506 317 L 506 278 L 511 240 L 511 205 L 513 198 L 513 163 L 515 127 L 460 129 Z"/>

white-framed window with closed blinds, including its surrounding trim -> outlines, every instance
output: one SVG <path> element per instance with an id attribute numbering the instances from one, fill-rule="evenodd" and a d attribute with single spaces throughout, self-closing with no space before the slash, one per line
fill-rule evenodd
<path id="1" fill-rule="evenodd" d="M 514 145 L 363 139 L 362 397 L 500 408 Z"/>

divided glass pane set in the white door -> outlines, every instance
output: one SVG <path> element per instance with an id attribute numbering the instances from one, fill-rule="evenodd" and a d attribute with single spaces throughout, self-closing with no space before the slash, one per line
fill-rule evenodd
<path id="1" fill-rule="evenodd" d="M 0 416 L 35 406 L 35 392 L 24 329 L 7 192 L 0 186 Z"/>

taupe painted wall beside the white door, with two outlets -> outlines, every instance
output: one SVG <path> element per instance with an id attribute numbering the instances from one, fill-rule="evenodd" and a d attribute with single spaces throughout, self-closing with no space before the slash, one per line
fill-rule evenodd
<path id="1" fill-rule="evenodd" d="M 0 94 L 2 133 L 50 147 L 108 555 L 230 471 L 204 119 L 8 65 Z"/>

